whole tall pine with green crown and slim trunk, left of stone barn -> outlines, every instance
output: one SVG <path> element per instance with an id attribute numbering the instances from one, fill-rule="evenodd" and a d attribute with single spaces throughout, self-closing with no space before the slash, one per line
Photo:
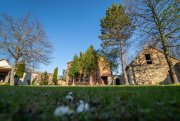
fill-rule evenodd
<path id="1" fill-rule="evenodd" d="M 128 84 L 127 74 L 125 71 L 125 48 L 128 45 L 134 25 L 131 18 L 125 11 L 125 7 L 121 4 L 113 4 L 106 10 L 106 15 L 100 20 L 102 47 L 119 48 L 122 74 L 125 84 Z M 112 50 L 113 51 L 113 50 Z M 114 53 L 115 54 L 115 53 Z"/>

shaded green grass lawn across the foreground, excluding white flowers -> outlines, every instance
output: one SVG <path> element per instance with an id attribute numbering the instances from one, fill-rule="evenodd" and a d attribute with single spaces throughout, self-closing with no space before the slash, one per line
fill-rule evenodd
<path id="1" fill-rule="evenodd" d="M 65 97 L 73 92 L 73 102 Z M 56 107 L 90 110 L 61 117 Z M 0 87 L 0 121 L 180 121 L 180 86 Z"/>

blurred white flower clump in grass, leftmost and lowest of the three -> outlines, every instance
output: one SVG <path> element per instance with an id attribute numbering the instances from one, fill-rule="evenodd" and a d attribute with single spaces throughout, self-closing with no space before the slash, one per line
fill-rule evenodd
<path id="1" fill-rule="evenodd" d="M 71 110 L 69 107 L 67 106 L 60 106 L 57 107 L 54 111 L 54 115 L 57 117 L 61 117 L 63 115 L 71 115 L 73 114 L 73 110 Z"/>

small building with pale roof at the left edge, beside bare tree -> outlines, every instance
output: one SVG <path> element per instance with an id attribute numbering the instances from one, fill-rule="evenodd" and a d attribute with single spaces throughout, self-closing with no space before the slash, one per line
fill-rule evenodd
<path id="1" fill-rule="evenodd" d="M 11 65 L 6 59 L 0 59 L 0 82 L 9 82 Z"/>

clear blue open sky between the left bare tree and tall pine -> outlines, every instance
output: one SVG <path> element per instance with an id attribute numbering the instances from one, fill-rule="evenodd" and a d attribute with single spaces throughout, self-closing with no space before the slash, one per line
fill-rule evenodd
<path id="1" fill-rule="evenodd" d="M 89 45 L 100 47 L 100 18 L 112 3 L 121 0 L 0 0 L 0 13 L 20 16 L 31 13 L 43 24 L 54 52 L 51 64 L 41 71 L 59 74 L 66 69 L 74 54 L 85 51 Z"/>

